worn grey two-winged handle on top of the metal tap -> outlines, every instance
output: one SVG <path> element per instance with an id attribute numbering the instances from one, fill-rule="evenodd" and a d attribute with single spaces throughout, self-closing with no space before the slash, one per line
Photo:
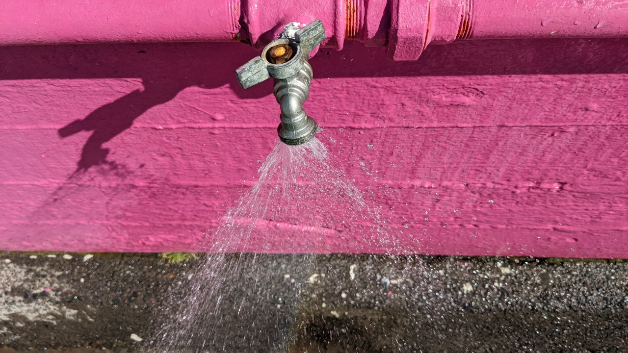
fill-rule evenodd
<path id="1" fill-rule="evenodd" d="M 243 89 L 274 79 L 288 79 L 296 75 L 303 67 L 303 63 L 310 58 L 310 52 L 325 40 L 325 28 L 320 19 L 296 31 L 295 38 L 279 38 L 272 41 L 264 48 L 262 55 L 252 58 L 249 62 L 237 68 L 237 80 Z M 287 49 L 273 50 L 276 46 Z M 279 52 L 283 55 L 291 55 L 281 63 L 274 63 L 271 54 Z M 288 52 L 288 54 L 285 54 Z M 291 52 L 291 53 L 290 53 Z"/>

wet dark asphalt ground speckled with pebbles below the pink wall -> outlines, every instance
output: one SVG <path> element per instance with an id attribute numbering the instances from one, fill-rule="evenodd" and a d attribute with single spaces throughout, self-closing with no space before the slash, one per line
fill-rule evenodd
<path id="1" fill-rule="evenodd" d="M 91 255 L 0 253 L 1 353 L 628 352 L 624 261 Z"/>

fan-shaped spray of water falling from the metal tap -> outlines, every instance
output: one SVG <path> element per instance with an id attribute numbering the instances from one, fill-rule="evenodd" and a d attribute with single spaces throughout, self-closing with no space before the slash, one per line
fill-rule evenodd
<path id="1" fill-rule="evenodd" d="M 264 296 L 266 288 L 257 286 L 264 283 L 260 278 L 276 276 L 279 281 L 289 275 L 258 268 L 256 259 L 273 249 L 287 249 L 295 253 L 294 261 L 299 264 L 295 267 L 301 273 L 296 276 L 309 275 L 310 281 L 315 281 L 311 254 L 326 253 L 332 247 L 338 251 L 343 244 L 355 249 L 356 242 L 390 243 L 377 209 L 369 208 L 354 182 L 332 166 L 327 148 L 318 139 L 301 146 L 278 142 L 258 172 L 257 183 L 243 193 L 208 237 L 207 262 L 193 273 L 192 288 L 171 295 L 173 307 L 179 309 L 163 313 L 166 323 L 155 339 L 158 351 L 246 349 L 247 340 L 266 340 L 269 351 L 283 351 L 293 342 L 298 325 L 295 315 L 306 285 L 283 278 L 285 295 L 277 298 L 281 315 L 258 310 L 274 305 L 273 298 Z M 356 229 L 363 230 L 362 239 L 344 237 L 344 232 L 356 234 Z M 244 285 L 247 288 L 242 288 Z M 222 326 L 225 307 L 230 312 L 237 309 L 241 325 Z"/>

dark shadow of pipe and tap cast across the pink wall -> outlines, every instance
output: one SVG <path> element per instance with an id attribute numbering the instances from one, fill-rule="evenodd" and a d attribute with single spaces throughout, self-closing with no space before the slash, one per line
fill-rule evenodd
<path id="1" fill-rule="evenodd" d="M 430 45 L 416 62 L 391 62 L 384 48 L 348 43 L 342 52 L 323 48 L 311 63 L 317 78 L 626 73 L 625 53 L 624 39 L 461 41 Z M 271 82 L 243 90 L 234 75 L 239 65 L 258 54 L 241 43 L 14 46 L 0 48 L 0 78 L 143 80 L 143 90 L 58 130 L 61 138 L 92 131 L 77 161 L 80 172 L 95 165 L 117 168 L 107 160 L 109 150 L 103 144 L 186 87 L 229 85 L 242 99 L 271 94 Z"/>

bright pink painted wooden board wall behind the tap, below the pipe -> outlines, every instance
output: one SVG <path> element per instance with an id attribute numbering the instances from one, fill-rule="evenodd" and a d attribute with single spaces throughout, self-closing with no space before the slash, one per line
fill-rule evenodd
<path id="1" fill-rule="evenodd" d="M 311 60 L 306 110 L 338 167 L 414 231 L 408 251 L 628 258 L 626 53 L 625 39 L 466 41 L 404 63 L 348 42 Z M 234 75 L 254 55 L 0 48 L 0 249 L 197 250 L 276 141 L 271 82 Z M 325 251 L 383 251 L 360 237 Z M 244 250 L 307 250 L 266 241 Z"/>

